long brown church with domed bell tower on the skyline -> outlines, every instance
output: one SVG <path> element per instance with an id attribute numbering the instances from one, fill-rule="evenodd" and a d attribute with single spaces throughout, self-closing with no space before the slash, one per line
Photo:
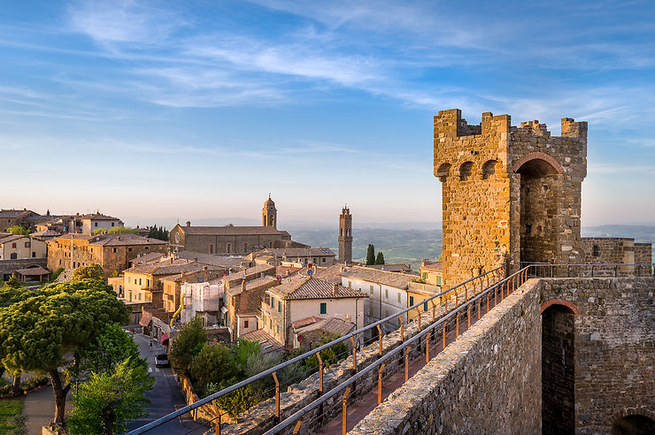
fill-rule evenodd
<path id="1" fill-rule="evenodd" d="M 214 255 L 247 255 L 263 248 L 302 248 L 286 231 L 277 229 L 277 209 L 268 195 L 262 209 L 261 226 L 175 225 L 169 233 L 173 251 L 183 250 Z"/>

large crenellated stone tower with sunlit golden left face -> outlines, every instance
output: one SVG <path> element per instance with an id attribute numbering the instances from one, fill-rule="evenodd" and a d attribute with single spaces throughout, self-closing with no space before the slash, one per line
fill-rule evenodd
<path id="1" fill-rule="evenodd" d="M 511 126 L 459 109 L 435 116 L 435 176 L 443 191 L 443 282 L 521 262 L 574 263 L 580 245 L 587 123 L 562 118 L 562 135 L 538 121 Z"/>

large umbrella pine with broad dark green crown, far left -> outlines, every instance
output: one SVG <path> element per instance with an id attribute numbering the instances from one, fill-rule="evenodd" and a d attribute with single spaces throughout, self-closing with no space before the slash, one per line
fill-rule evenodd
<path id="1" fill-rule="evenodd" d="M 63 424 L 65 397 L 72 375 L 79 370 L 81 350 L 96 340 L 106 324 L 128 318 L 125 303 L 111 286 L 98 280 L 0 292 L 0 362 L 12 372 L 48 373 L 55 395 L 55 423 Z M 65 382 L 59 375 L 61 367 Z"/>

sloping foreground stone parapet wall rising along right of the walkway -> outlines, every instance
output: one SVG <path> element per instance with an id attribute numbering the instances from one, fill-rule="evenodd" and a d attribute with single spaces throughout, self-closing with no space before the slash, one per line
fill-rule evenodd
<path id="1" fill-rule="evenodd" d="M 349 433 L 541 433 L 540 343 L 539 284 L 530 280 Z"/>

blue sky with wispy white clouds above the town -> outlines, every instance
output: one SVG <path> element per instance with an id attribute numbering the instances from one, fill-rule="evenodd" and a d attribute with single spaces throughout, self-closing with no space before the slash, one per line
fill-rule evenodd
<path id="1" fill-rule="evenodd" d="M 655 2 L 4 0 L 2 208 L 441 221 L 433 117 L 589 121 L 582 225 L 655 224 Z"/>

